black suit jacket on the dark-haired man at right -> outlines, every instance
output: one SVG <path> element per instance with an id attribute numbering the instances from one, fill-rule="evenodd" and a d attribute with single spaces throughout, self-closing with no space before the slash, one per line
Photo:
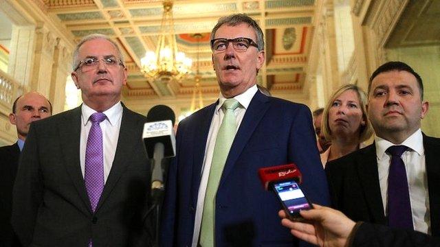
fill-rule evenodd
<path id="1" fill-rule="evenodd" d="M 423 134 L 431 232 L 440 236 L 440 139 Z M 355 221 L 388 224 L 380 193 L 375 143 L 327 163 L 333 207 Z"/>

